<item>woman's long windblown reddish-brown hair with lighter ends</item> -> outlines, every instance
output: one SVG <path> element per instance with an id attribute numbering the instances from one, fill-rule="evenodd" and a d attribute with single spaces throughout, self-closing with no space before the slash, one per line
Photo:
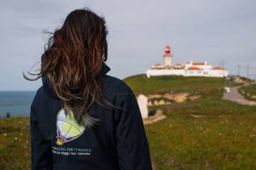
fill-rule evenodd
<path id="1" fill-rule="evenodd" d="M 23 77 L 30 81 L 47 77 L 66 113 L 72 111 L 76 122 L 90 127 L 98 121 L 87 114 L 93 102 L 113 106 L 101 89 L 100 70 L 108 57 L 105 19 L 87 8 L 73 10 L 50 34 L 40 73 L 29 73 L 37 75 L 35 79 L 24 73 Z"/>

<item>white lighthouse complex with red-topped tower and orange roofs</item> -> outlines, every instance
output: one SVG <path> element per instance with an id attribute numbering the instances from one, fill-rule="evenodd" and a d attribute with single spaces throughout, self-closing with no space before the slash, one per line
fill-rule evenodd
<path id="1" fill-rule="evenodd" d="M 173 55 L 169 45 L 164 48 L 164 64 L 152 65 L 147 70 L 147 77 L 164 75 L 181 75 L 184 77 L 228 77 L 228 71 L 221 67 L 213 67 L 205 62 L 187 62 L 172 64 Z"/>

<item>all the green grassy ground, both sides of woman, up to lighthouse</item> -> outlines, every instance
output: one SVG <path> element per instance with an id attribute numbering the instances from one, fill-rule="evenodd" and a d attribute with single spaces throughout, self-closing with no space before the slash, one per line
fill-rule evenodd
<path id="1" fill-rule="evenodd" d="M 224 86 L 236 84 L 224 78 L 147 79 L 144 74 L 124 81 L 136 94 L 197 91 L 202 95 L 194 101 L 149 107 L 150 112 L 161 109 L 167 116 L 145 126 L 157 169 L 256 167 L 256 107 L 221 99 Z M 0 127 L 0 169 L 29 169 L 28 118 L 0 119 Z"/>

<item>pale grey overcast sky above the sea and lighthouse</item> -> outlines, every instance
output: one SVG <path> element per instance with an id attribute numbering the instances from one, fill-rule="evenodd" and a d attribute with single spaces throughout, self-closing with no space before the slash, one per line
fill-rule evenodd
<path id="1" fill-rule="evenodd" d="M 84 6 L 104 16 L 109 29 L 109 75 L 124 78 L 163 64 L 164 46 L 173 63 L 204 61 L 230 73 L 250 64 L 256 77 L 255 0 L 79 1 L 6 0 L 0 2 L 0 90 L 36 90 L 39 81 L 26 81 L 40 61 L 47 35 L 61 27 L 71 10 Z M 37 64 L 36 68 L 39 68 Z"/>

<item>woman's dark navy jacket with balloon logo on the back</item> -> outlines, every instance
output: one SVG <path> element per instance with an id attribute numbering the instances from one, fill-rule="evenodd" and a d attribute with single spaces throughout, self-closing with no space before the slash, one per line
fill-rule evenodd
<path id="1" fill-rule="evenodd" d="M 65 118 L 62 102 L 47 78 L 31 105 L 32 170 L 151 170 L 143 119 L 133 91 L 116 77 L 106 75 L 103 91 L 109 102 L 127 111 L 92 105 L 89 114 L 100 118 L 90 129 Z"/>

